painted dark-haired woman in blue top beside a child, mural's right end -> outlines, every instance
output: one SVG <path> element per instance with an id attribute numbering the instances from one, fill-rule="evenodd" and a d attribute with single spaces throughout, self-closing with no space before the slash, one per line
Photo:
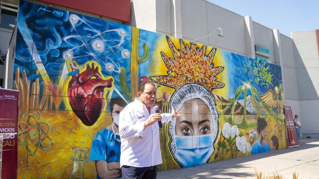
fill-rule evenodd
<path id="1" fill-rule="evenodd" d="M 253 145 L 251 154 L 259 154 L 270 151 L 270 147 L 266 142 L 267 139 L 267 122 L 264 118 L 257 119 L 257 132 L 259 139 Z"/>

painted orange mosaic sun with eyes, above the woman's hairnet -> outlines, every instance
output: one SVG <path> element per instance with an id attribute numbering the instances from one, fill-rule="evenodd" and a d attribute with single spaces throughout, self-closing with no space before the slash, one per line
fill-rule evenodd
<path id="1" fill-rule="evenodd" d="M 178 50 L 169 36 L 166 36 L 166 39 L 174 59 L 168 58 L 166 54 L 161 52 L 161 57 L 168 68 L 168 75 L 151 76 L 152 81 L 174 89 L 188 83 L 198 83 L 209 91 L 225 86 L 224 83 L 216 81 L 217 77 L 215 77 L 224 69 L 224 67 L 213 67 L 216 48 L 212 48 L 206 55 L 207 46 L 203 45 L 199 49 L 196 43 L 191 42 L 190 47 L 188 47 L 188 45 L 185 46 L 182 39 L 179 39 L 181 49 Z"/>

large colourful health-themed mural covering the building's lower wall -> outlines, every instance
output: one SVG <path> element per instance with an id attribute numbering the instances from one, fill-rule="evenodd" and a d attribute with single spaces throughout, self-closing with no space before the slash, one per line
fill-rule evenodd
<path id="1" fill-rule="evenodd" d="M 20 1 L 14 89 L 19 178 L 115 178 L 119 113 L 157 86 L 159 170 L 286 147 L 279 66 L 99 18 Z"/>

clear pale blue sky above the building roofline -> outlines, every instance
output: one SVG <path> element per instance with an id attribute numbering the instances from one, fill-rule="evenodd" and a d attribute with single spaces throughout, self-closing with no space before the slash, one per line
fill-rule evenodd
<path id="1" fill-rule="evenodd" d="M 291 37 L 293 31 L 319 29 L 319 0 L 207 0 L 253 21 L 278 29 Z"/>

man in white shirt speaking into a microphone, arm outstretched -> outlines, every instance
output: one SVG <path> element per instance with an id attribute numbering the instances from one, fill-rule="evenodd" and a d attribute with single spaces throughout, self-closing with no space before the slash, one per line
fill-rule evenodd
<path id="1" fill-rule="evenodd" d="M 162 163 L 158 121 L 167 123 L 183 114 L 173 106 L 171 114 L 155 113 L 156 87 L 151 81 L 142 82 L 137 95 L 120 113 L 122 177 L 155 179 L 157 165 Z"/>

